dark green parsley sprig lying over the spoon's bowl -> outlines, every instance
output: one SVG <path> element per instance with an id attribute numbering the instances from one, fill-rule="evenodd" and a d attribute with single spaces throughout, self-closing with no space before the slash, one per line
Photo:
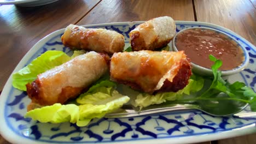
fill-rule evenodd
<path id="1" fill-rule="evenodd" d="M 212 65 L 212 71 L 214 78 L 211 79 L 211 86 L 207 89 L 203 89 L 202 94 L 196 94 L 192 98 L 179 99 L 176 103 L 186 103 L 193 101 L 203 106 L 205 109 L 217 109 L 217 106 L 226 106 L 226 109 L 231 109 L 229 105 L 242 105 L 242 103 L 248 103 L 251 106 L 252 111 L 256 111 L 256 93 L 252 88 L 247 87 L 243 82 L 229 83 L 222 79 L 222 73 L 218 69 L 222 66 L 222 61 L 216 57 L 210 55 L 210 60 L 214 62 Z M 223 97 L 223 95 L 225 95 Z M 240 103 L 240 104 L 238 104 Z M 232 107 L 234 109 L 234 107 Z"/>

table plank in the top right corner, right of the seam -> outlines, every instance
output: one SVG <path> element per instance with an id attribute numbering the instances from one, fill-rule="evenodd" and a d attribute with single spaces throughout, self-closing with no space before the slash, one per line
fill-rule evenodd
<path id="1" fill-rule="evenodd" d="M 255 1 L 195 0 L 197 21 L 210 22 L 234 31 L 256 45 Z"/>

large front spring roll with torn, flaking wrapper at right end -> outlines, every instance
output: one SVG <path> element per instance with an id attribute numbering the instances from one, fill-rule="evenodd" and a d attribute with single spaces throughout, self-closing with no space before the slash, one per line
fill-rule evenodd
<path id="1" fill-rule="evenodd" d="M 114 53 L 110 79 L 147 93 L 177 92 L 188 85 L 190 59 L 184 51 Z"/>

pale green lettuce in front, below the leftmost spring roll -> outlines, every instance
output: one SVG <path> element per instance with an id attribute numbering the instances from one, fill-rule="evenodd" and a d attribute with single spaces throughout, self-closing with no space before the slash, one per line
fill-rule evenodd
<path id="1" fill-rule="evenodd" d="M 39 122 L 71 122 L 83 127 L 88 125 L 92 118 L 104 117 L 106 113 L 119 109 L 130 100 L 129 97 L 115 91 L 114 86 L 114 82 L 101 81 L 79 96 L 78 105 L 44 106 L 27 112 L 25 117 L 31 117 Z"/>

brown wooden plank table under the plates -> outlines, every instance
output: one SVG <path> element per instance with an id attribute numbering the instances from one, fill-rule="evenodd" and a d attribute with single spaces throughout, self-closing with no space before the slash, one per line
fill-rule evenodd
<path id="1" fill-rule="evenodd" d="M 158 16 L 231 29 L 256 44 L 255 0 L 59 0 L 40 7 L 0 5 L 0 90 L 21 58 L 40 39 L 69 23 L 144 21 Z M 256 134 L 202 143 L 254 143 Z M 8 143 L 0 136 L 0 143 Z"/>

